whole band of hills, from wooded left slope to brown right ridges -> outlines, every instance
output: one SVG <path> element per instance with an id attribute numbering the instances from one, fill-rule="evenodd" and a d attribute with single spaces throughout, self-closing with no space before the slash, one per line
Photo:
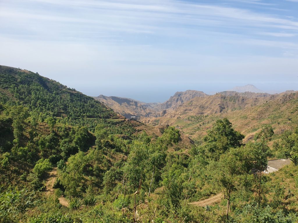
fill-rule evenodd
<path id="1" fill-rule="evenodd" d="M 92 118 L 117 117 L 117 114 L 125 118 L 136 116 L 137 120 L 151 126 L 176 126 L 186 136 L 201 139 L 217 119 L 226 117 L 236 130 L 246 135 L 246 140 L 252 138 L 265 124 L 272 125 L 277 134 L 291 130 L 297 124 L 298 94 L 295 91 L 280 94 L 224 91 L 207 95 L 201 91 L 187 90 L 176 92 L 164 103 L 99 95 L 93 97 L 99 101 L 96 103 L 96 100 L 75 89 L 27 70 L 0 66 L 0 72 L 3 77 L 0 80 L 3 103 L 22 100 L 31 109 L 38 106 L 56 117 L 68 116 L 74 123 L 81 123 L 82 117 L 87 118 L 83 121 L 86 122 Z M 31 91 L 25 87 L 26 83 L 34 83 L 32 86 L 39 90 Z M 246 85 L 245 90 L 247 86 L 257 89 Z M 42 102 L 41 95 L 49 98 L 51 103 Z"/>

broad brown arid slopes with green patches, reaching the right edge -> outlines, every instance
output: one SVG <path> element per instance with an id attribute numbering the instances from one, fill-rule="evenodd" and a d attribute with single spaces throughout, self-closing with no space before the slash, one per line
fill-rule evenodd
<path id="1" fill-rule="evenodd" d="M 264 97 L 245 97 L 243 93 L 226 96 L 218 93 L 207 98 L 193 98 L 175 111 L 150 120 L 151 123 L 178 126 L 184 134 L 201 139 L 212 124 L 228 118 L 235 130 L 253 138 L 265 124 L 272 125 L 275 137 L 298 124 L 298 92 L 288 91 Z M 260 96 L 260 95 L 259 95 Z"/>

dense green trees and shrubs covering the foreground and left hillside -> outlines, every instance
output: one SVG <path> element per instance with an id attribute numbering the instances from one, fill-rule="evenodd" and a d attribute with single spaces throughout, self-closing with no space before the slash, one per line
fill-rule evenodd
<path id="1" fill-rule="evenodd" d="M 297 222 L 297 130 L 270 148 L 271 125 L 245 144 L 218 119 L 185 149 L 174 127 L 138 131 L 73 89 L 0 68 L 1 223 Z M 263 174 L 274 155 L 293 163 Z"/>

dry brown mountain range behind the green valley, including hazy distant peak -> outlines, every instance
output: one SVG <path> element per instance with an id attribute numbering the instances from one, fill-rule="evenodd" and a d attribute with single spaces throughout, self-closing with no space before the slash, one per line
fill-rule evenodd
<path id="1" fill-rule="evenodd" d="M 143 123 L 174 125 L 194 139 L 202 138 L 212 124 L 223 117 L 227 117 L 236 130 L 242 131 L 246 140 L 251 139 L 265 124 L 272 125 L 278 134 L 294 128 L 297 123 L 297 92 L 242 92 L 247 89 L 257 88 L 246 85 L 235 89 L 239 92 L 224 91 L 214 95 L 187 90 L 176 92 L 164 103 L 145 103 L 103 95 L 95 99 L 125 117 L 136 116 Z"/>

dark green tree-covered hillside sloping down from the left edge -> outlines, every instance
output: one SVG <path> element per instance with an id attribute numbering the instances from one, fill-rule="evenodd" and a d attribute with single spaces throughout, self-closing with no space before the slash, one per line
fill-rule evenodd
<path id="1" fill-rule="evenodd" d="M 110 108 L 75 89 L 13 67 L 0 66 L 0 99 L 2 103 L 24 105 L 30 110 L 73 120 L 117 116 Z"/>

